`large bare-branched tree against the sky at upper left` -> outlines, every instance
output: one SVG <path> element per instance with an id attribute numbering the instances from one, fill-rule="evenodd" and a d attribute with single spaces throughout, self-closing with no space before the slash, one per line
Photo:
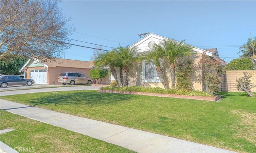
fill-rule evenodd
<path id="1" fill-rule="evenodd" d="M 1 0 L 0 59 L 9 53 L 28 58 L 59 57 L 74 31 L 58 8 L 60 1 Z M 46 58 L 44 58 L 46 57 Z"/>

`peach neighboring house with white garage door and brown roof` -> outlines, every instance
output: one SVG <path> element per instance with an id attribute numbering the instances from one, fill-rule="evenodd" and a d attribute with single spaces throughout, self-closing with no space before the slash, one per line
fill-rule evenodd
<path id="1" fill-rule="evenodd" d="M 93 61 L 78 61 L 72 59 L 58 59 L 40 62 L 38 59 L 28 60 L 20 69 L 25 78 L 32 78 L 37 84 L 61 84 L 57 79 L 62 72 L 83 73 L 89 77 Z"/>

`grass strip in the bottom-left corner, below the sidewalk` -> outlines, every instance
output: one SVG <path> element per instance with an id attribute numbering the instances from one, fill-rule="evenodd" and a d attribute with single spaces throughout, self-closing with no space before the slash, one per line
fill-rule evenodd
<path id="1" fill-rule="evenodd" d="M 0 139 L 12 148 L 30 148 L 30 151 L 35 153 L 133 152 L 117 145 L 10 112 L 1 110 L 0 113 L 0 129 L 14 129 L 14 131 L 1 134 Z M 27 152 L 29 151 L 27 150 Z"/>

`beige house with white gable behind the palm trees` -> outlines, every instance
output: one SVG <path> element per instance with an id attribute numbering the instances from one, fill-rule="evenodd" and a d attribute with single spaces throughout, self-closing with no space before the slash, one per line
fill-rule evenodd
<path id="1" fill-rule="evenodd" d="M 166 37 L 162 37 L 160 35 L 156 35 L 154 33 L 148 34 L 146 37 L 140 39 L 130 47 L 137 47 L 138 51 L 143 52 L 149 49 L 152 49 L 152 46 L 156 43 L 159 44 L 164 39 L 168 39 Z M 192 46 L 193 47 L 193 46 Z M 213 57 L 214 59 L 219 59 L 219 54 L 217 49 L 200 49 L 198 47 L 193 47 L 196 54 L 194 55 L 194 63 L 198 63 L 202 54 L 205 53 L 208 56 Z M 221 63 L 225 63 L 225 61 L 219 59 Z M 164 63 L 163 63 L 164 64 Z M 150 87 L 162 87 L 163 85 L 158 78 L 156 72 L 156 66 L 148 61 L 142 61 L 142 63 L 134 64 L 129 67 L 130 71 L 128 74 L 129 86 L 150 86 Z M 119 70 L 117 70 L 117 74 L 119 77 Z M 167 77 L 165 80 L 168 80 L 167 85 L 171 85 L 170 73 L 168 70 L 165 71 Z M 202 83 L 198 82 L 198 76 L 202 75 L 200 71 L 196 71 L 190 78 L 192 80 L 193 88 L 195 90 L 203 90 L 204 86 Z M 114 80 L 112 75 L 110 74 L 108 77 L 103 79 L 103 82 L 111 82 L 110 80 Z M 118 80 L 120 82 L 120 80 Z"/>

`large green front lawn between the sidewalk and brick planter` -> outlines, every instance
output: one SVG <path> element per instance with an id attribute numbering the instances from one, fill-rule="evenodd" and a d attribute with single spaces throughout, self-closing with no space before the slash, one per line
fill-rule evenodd
<path id="1" fill-rule="evenodd" d="M 1 96 L 6 100 L 238 152 L 256 152 L 256 98 L 223 92 L 209 102 L 96 91 Z"/>

